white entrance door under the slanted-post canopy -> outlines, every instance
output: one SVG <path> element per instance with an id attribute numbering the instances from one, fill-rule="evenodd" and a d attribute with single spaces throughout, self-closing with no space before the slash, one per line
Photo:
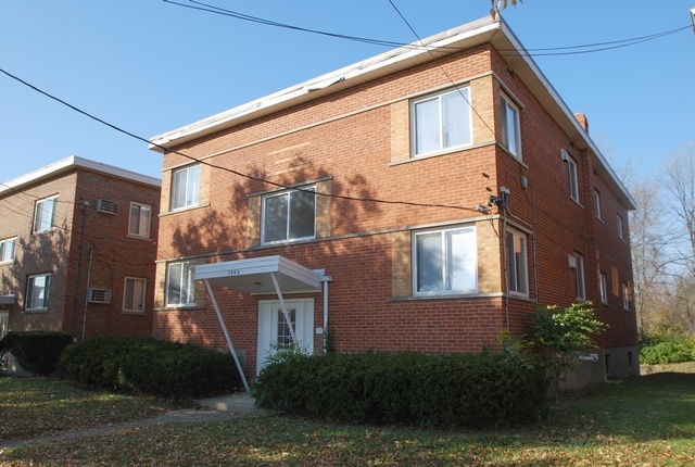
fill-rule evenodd
<path id="1" fill-rule="evenodd" d="M 308 354 L 314 353 L 314 299 L 286 300 L 285 305 L 293 321 L 294 335 L 300 349 Z M 263 300 L 258 302 L 256 375 L 265 366 L 268 356 L 291 343 L 292 337 L 280 301 Z"/>

